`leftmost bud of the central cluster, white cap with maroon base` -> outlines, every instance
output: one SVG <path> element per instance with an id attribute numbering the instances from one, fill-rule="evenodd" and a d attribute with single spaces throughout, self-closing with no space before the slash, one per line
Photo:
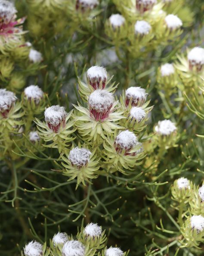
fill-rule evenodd
<path id="1" fill-rule="evenodd" d="M 59 105 L 51 106 L 45 110 L 44 114 L 48 127 L 55 133 L 59 131 L 61 125 L 63 128 L 65 128 L 65 119 L 67 113 L 65 112 L 64 107 L 60 107 Z"/>

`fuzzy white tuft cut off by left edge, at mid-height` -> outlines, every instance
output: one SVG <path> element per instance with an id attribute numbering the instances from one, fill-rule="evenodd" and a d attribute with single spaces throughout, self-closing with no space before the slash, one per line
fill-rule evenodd
<path id="1" fill-rule="evenodd" d="M 15 104 L 16 99 L 15 93 L 0 89 L 0 111 L 10 109 Z"/>

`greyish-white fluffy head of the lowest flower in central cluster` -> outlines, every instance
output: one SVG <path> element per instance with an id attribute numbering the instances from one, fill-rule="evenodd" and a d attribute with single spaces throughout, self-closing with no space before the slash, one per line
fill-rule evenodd
<path id="1" fill-rule="evenodd" d="M 86 166 L 90 160 L 91 152 L 86 148 L 73 148 L 69 153 L 69 160 L 73 166 L 81 168 Z"/>

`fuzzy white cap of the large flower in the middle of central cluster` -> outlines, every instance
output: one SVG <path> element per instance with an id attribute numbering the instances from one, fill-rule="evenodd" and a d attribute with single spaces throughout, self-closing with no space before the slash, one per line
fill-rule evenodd
<path id="1" fill-rule="evenodd" d="M 96 109 L 98 112 L 103 112 L 105 109 L 112 106 L 113 103 L 113 94 L 106 90 L 96 90 L 89 96 L 89 106 L 92 109 Z"/>

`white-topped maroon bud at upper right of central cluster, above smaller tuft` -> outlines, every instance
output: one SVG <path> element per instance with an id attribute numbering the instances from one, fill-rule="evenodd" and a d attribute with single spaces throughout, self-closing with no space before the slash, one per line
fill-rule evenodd
<path id="1" fill-rule="evenodd" d="M 130 87 L 125 92 L 125 106 L 142 106 L 145 103 L 147 98 L 147 93 L 145 93 L 145 89 L 141 87 Z"/>

